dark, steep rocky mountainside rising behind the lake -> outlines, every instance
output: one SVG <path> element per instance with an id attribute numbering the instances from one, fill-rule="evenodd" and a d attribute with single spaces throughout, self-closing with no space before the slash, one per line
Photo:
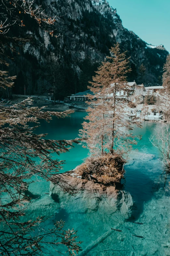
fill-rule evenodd
<path id="1" fill-rule="evenodd" d="M 122 51 L 127 51 L 127 57 L 131 56 L 129 81 L 161 85 L 168 52 L 163 45 L 149 45 L 124 28 L 116 9 L 106 0 L 37 0 L 36 3 L 49 16 L 58 16 L 55 24 L 58 37 L 47 34 L 33 19 L 25 20 L 25 27 L 13 31 L 13 35 L 29 35 L 34 41 L 18 49 L 20 55 L 11 60 L 10 75 L 18 76 L 15 93 L 23 94 L 25 85 L 26 94 L 42 94 L 50 90 L 54 80 L 58 98 L 86 90 L 94 71 L 116 41 Z M 146 70 L 141 71 L 141 64 Z"/>

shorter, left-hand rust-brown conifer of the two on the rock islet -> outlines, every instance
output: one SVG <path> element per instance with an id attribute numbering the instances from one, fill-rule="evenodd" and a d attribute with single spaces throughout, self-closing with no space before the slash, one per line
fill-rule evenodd
<path id="1" fill-rule="evenodd" d="M 83 123 L 83 130 L 80 130 L 82 137 L 86 137 L 86 144 L 92 155 L 103 154 L 107 146 L 106 138 L 106 119 L 107 119 L 107 105 L 106 97 L 106 83 L 110 85 L 110 81 L 107 80 L 106 66 L 101 65 L 96 72 L 96 76 L 93 77 L 92 87 L 88 86 L 93 95 L 89 94 L 88 98 L 90 105 L 88 108 L 88 115 L 85 117 L 90 122 Z M 105 140 L 104 140 L 105 138 Z"/>

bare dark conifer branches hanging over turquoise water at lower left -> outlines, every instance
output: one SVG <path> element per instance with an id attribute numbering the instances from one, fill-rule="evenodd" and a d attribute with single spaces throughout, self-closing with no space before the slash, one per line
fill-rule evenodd
<path id="1" fill-rule="evenodd" d="M 75 193 L 56 175 L 63 162 L 53 159 L 51 154 L 60 155 L 77 141 L 47 140 L 46 134 L 34 133 L 37 126 L 27 125 L 28 122 L 38 124 L 39 119 L 49 122 L 52 115 L 65 117 L 72 111 L 44 112 L 43 108 L 26 107 L 31 103 L 27 99 L 12 107 L 0 105 L 0 250 L 3 255 L 39 255 L 48 252 L 46 245 L 57 250 L 58 245 L 63 244 L 70 255 L 74 255 L 74 251 L 80 249 L 75 241 L 76 232 L 64 231 L 62 221 L 57 221 L 52 230 L 38 231 L 37 226 L 44 217 L 29 219 L 26 208 L 31 198 L 25 194 L 33 177 L 50 180 L 56 185 L 60 181 L 64 191 Z M 24 215 L 27 221 L 21 220 Z"/>

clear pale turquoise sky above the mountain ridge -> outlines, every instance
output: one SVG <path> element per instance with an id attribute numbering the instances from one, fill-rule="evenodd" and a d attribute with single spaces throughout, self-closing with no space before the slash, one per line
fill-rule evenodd
<path id="1" fill-rule="evenodd" d="M 152 45 L 163 44 L 170 53 L 170 0 L 107 0 L 122 24 Z"/>

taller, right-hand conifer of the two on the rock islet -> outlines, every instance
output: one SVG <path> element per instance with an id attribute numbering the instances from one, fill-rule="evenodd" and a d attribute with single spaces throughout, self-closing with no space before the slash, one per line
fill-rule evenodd
<path id="1" fill-rule="evenodd" d="M 110 153 L 115 151 L 120 152 L 121 155 L 125 151 L 129 151 L 131 146 L 135 143 L 134 136 L 130 132 L 133 130 L 133 125 L 140 123 L 137 118 L 131 117 L 129 119 L 129 102 L 127 96 L 131 94 L 127 84 L 127 73 L 131 70 L 128 67 L 129 59 L 126 59 L 126 53 L 120 53 L 119 44 L 115 48 L 111 48 L 111 57 L 108 58 L 111 63 L 108 63 L 112 83 L 109 88 L 109 93 L 113 94 L 113 99 L 109 104 L 109 112 L 111 121 L 111 147 Z M 117 97 L 117 92 L 123 94 L 122 97 Z M 113 112 L 112 112 L 113 111 Z"/>

